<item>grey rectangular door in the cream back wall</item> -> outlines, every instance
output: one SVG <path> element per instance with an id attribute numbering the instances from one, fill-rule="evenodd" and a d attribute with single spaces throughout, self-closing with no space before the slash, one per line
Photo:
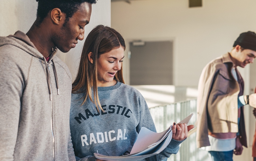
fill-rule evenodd
<path id="1" fill-rule="evenodd" d="M 173 42 L 130 42 L 130 85 L 173 85 Z"/>

